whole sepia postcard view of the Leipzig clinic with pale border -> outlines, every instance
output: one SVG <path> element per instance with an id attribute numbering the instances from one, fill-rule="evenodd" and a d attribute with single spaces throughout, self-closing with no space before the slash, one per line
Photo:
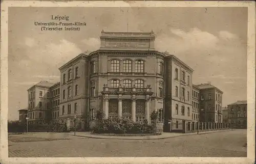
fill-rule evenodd
<path id="1" fill-rule="evenodd" d="M 248 6 L 123 3 L 8 7 L 6 157 L 253 162 Z"/>

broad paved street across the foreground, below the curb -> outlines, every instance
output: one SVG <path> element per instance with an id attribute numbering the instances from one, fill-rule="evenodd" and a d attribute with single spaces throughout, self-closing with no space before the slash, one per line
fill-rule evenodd
<path id="1" fill-rule="evenodd" d="M 9 135 L 9 157 L 246 157 L 246 130 L 159 140 L 109 140 L 68 133 Z"/>

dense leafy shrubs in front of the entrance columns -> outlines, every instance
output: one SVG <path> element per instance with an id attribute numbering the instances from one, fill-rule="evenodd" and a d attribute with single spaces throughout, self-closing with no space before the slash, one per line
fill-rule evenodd
<path id="1" fill-rule="evenodd" d="M 130 119 L 109 118 L 97 122 L 94 133 L 152 133 L 153 128 L 147 124 L 146 120 L 133 122 Z"/>

